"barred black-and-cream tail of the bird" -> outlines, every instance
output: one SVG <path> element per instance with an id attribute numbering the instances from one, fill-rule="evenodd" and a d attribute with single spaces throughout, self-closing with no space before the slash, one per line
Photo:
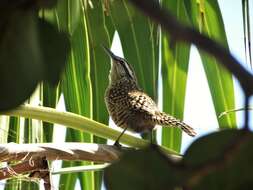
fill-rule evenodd
<path id="1" fill-rule="evenodd" d="M 181 128 L 184 132 L 186 132 L 192 137 L 197 134 L 192 127 L 164 112 L 160 112 L 159 114 L 152 116 L 152 120 L 159 125 L 167 125 L 168 127 Z"/>

